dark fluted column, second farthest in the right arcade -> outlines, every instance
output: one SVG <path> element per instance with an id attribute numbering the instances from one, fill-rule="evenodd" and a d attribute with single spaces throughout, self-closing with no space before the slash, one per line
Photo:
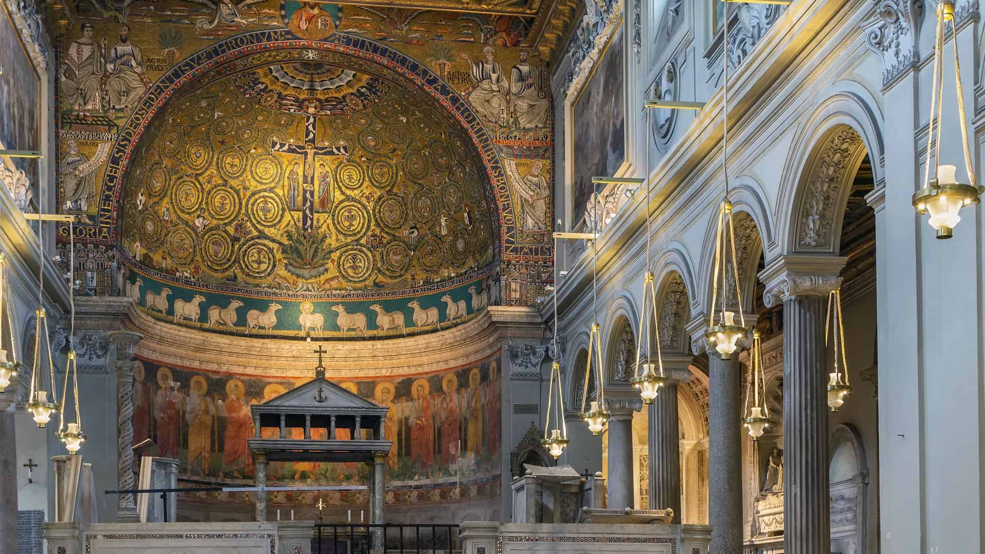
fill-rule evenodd
<path id="1" fill-rule="evenodd" d="M 687 368 L 670 368 L 669 380 L 649 406 L 650 509 L 674 511 L 673 523 L 681 522 L 681 429 L 678 421 L 677 387 L 687 381 Z"/>

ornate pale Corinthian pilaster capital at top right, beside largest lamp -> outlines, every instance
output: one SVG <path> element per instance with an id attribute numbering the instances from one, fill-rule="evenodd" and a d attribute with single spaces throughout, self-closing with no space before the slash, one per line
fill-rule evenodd
<path id="1" fill-rule="evenodd" d="M 869 48 L 883 57 L 884 88 L 920 62 L 923 10 L 923 0 L 876 0 L 876 17 L 862 25 Z"/>

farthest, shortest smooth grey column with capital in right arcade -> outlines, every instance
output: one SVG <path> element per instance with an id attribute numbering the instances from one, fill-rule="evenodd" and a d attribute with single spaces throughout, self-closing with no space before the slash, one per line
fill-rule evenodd
<path id="1" fill-rule="evenodd" d="M 632 413 L 640 409 L 643 401 L 636 396 L 609 398 L 609 489 L 606 508 L 623 510 L 635 508 L 632 500 Z"/>

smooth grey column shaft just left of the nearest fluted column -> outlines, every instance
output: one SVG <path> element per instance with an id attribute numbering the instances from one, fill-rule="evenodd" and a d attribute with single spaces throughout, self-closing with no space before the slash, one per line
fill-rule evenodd
<path id="1" fill-rule="evenodd" d="M 740 372 L 738 356 L 723 361 L 708 352 L 708 522 L 715 554 L 743 553 Z"/>

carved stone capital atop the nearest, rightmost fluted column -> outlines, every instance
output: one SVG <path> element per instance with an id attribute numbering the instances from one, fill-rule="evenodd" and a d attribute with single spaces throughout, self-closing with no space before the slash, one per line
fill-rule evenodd
<path id="1" fill-rule="evenodd" d="M 812 254 L 791 254 L 773 259 L 759 272 L 759 280 L 766 284 L 763 303 L 772 308 L 790 297 L 827 296 L 841 286 L 838 275 L 847 259 Z"/>

